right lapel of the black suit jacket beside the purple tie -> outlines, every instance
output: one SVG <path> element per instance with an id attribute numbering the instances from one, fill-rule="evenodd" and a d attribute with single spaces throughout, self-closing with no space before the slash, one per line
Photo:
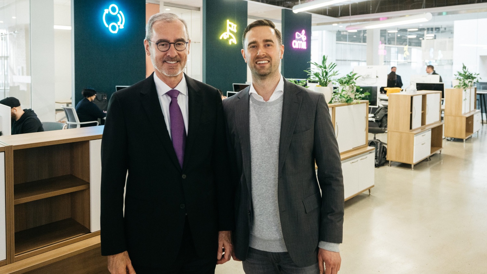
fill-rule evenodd
<path id="1" fill-rule="evenodd" d="M 187 162 L 189 156 L 191 155 L 191 150 L 194 142 L 197 139 L 198 126 L 200 123 L 201 116 L 201 91 L 196 84 L 196 82 L 189 78 L 186 74 L 187 84 L 187 95 L 188 95 L 188 126 L 187 126 L 187 138 L 186 138 L 186 148 L 184 154 L 183 169 L 187 167 Z"/>

